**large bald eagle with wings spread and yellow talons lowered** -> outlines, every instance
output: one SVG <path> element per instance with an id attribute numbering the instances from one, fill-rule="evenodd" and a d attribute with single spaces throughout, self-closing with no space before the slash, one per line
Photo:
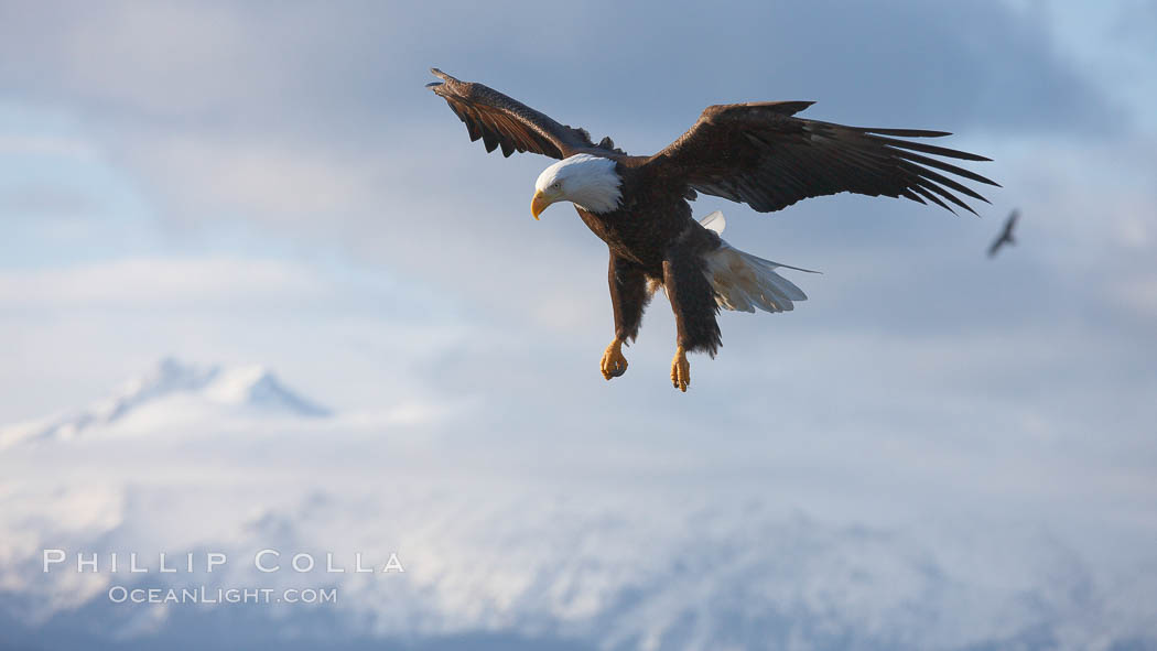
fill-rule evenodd
<path id="1" fill-rule="evenodd" d="M 678 331 L 671 384 L 684 392 L 691 382 L 687 353 L 714 357 L 722 343 L 715 320 L 720 308 L 782 312 L 806 298 L 775 273 L 787 265 L 720 238 L 720 215 L 693 220 L 688 201 L 697 193 L 747 204 L 760 213 L 809 197 L 854 192 L 930 201 L 955 212 L 952 204 L 975 214 L 955 193 L 987 199 L 936 170 L 997 185 L 930 156 L 989 158 L 901 140 L 950 135 L 946 132 L 850 127 L 795 117 L 812 102 L 708 106 L 662 151 L 631 156 L 610 138 L 596 143 L 585 130 L 559 124 L 492 88 L 458 81 L 437 68 L 430 72 L 442 81 L 427 87 L 445 99 L 470 139 L 481 139 L 487 151 L 559 158 L 535 183 L 531 214 L 537 220 L 551 204 L 570 201 L 610 249 L 614 340 L 600 363 L 606 379 L 626 372 L 622 346 L 638 336 L 643 309 L 659 287 L 671 302 Z"/>

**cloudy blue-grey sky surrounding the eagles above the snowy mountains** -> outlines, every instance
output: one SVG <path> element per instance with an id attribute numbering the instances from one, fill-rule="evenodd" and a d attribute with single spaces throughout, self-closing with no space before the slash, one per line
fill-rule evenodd
<path id="1" fill-rule="evenodd" d="M 339 410 L 466 409 L 480 454 L 758 458 L 1078 538 L 1112 520 L 1130 560 L 1157 534 L 1157 2 L 0 2 L 0 423 L 167 355 L 257 362 Z M 530 219 L 550 161 L 471 143 L 430 66 L 636 154 L 708 104 L 812 99 L 951 131 L 1003 187 L 981 219 L 702 199 L 824 275 L 790 276 L 795 312 L 722 315 L 685 395 L 658 298 L 605 383 L 604 245 L 568 207 Z M 893 494 L 889 464 L 928 468 Z"/>

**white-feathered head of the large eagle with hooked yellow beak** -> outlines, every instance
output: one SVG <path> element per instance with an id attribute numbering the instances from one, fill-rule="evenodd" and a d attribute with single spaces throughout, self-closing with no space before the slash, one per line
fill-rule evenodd
<path id="1" fill-rule="evenodd" d="M 622 200 L 622 178 L 614 161 L 590 154 L 575 154 L 543 170 L 535 182 L 530 212 L 538 214 L 555 201 L 570 201 L 589 213 L 609 213 Z"/>

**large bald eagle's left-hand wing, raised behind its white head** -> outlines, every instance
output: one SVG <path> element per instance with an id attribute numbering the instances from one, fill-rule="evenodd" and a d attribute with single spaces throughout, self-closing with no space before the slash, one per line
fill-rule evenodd
<path id="1" fill-rule="evenodd" d="M 622 154 L 614 149 L 610 138 L 595 145 L 585 130 L 561 125 L 488 86 L 458 81 L 437 68 L 430 68 L 430 72 L 442 81 L 426 87 L 445 99 L 458 119 L 465 123 L 470 140 L 482 139 L 487 151 L 501 147 L 503 156 L 533 151 L 554 158 L 598 150 Z"/>

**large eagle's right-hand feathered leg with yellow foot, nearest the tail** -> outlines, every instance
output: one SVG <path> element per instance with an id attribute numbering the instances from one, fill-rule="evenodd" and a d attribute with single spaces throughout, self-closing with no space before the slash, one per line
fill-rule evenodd
<path id="1" fill-rule="evenodd" d="M 671 361 L 671 384 L 684 392 L 691 384 L 687 353 L 705 350 L 714 357 L 722 342 L 720 326 L 715 321 L 718 304 L 715 290 L 703 273 L 702 246 L 703 243 L 680 241 L 663 260 L 663 287 L 671 301 L 678 331 L 675 360 Z"/>

